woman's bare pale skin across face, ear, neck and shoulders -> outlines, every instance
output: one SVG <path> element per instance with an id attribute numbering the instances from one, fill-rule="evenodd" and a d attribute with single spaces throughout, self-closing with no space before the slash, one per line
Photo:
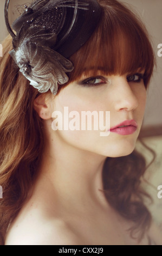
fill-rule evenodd
<path id="1" fill-rule="evenodd" d="M 141 72 L 143 74 L 144 71 Z M 34 107 L 44 120 L 44 150 L 33 193 L 11 224 L 6 245 L 147 245 L 147 235 L 161 244 L 160 233 L 151 227 L 138 241 L 124 220 L 108 204 L 102 190 L 102 167 L 107 156 L 131 154 L 139 135 L 146 103 L 144 81 L 132 74 L 100 76 L 95 86 L 82 86 L 84 76 L 70 83 L 56 97 L 42 94 Z M 96 86 L 98 84 L 98 86 Z M 88 83 L 89 85 L 89 83 Z M 110 111 L 111 127 L 134 119 L 131 135 L 100 131 L 53 131 L 52 113 Z"/>

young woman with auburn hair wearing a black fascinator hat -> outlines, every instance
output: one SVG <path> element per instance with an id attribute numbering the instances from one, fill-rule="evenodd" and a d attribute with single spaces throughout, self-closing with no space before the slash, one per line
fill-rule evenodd
<path id="1" fill-rule="evenodd" d="M 54 2 L 70 29 L 51 29 Z M 140 187 L 145 160 L 134 150 L 154 66 L 144 25 L 116 0 L 35 3 L 1 60 L 1 243 L 160 244 Z M 110 127 L 104 136 L 93 125 L 56 129 L 67 125 L 64 107 L 79 117 L 109 111 Z"/>

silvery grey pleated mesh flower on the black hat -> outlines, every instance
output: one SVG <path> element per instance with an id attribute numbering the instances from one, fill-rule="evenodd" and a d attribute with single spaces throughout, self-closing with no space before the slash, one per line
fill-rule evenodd
<path id="1" fill-rule="evenodd" d="M 47 34 L 42 27 L 29 27 L 27 31 L 21 28 L 13 40 L 15 49 L 10 52 L 11 57 L 40 93 L 50 89 L 55 95 L 58 84 L 68 82 L 66 72 L 73 70 L 73 64 L 68 59 L 50 48 L 56 38 L 55 33 Z"/>

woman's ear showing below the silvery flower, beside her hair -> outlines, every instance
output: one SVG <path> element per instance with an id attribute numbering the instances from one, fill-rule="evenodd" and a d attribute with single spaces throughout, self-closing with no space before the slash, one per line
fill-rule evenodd
<path id="1" fill-rule="evenodd" d="M 48 120 L 51 118 L 51 104 L 50 97 L 47 94 L 40 94 L 34 100 L 34 109 L 44 120 Z"/>

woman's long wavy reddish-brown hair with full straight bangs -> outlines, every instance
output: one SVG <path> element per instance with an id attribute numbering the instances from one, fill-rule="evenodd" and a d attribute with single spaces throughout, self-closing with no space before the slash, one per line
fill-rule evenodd
<path id="1" fill-rule="evenodd" d="M 126 74 L 144 69 L 147 88 L 155 63 L 146 28 L 137 15 L 116 0 L 98 0 L 101 20 L 94 34 L 79 51 L 70 57 L 74 70 L 69 82 L 83 72 L 96 75 Z M 7 228 L 16 217 L 37 178 L 43 149 L 43 123 L 34 111 L 39 95 L 29 85 L 9 55 L 12 49 L 8 36 L 3 44 L 0 63 L 0 234 L 4 244 Z M 64 86 L 60 86 L 63 89 Z M 58 92 L 59 93 L 59 92 Z M 144 205 L 147 194 L 140 187 L 146 162 L 136 151 L 123 157 L 107 157 L 103 166 L 103 188 L 109 202 L 124 218 L 132 221 L 139 239 L 150 227 L 151 215 Z"/>

